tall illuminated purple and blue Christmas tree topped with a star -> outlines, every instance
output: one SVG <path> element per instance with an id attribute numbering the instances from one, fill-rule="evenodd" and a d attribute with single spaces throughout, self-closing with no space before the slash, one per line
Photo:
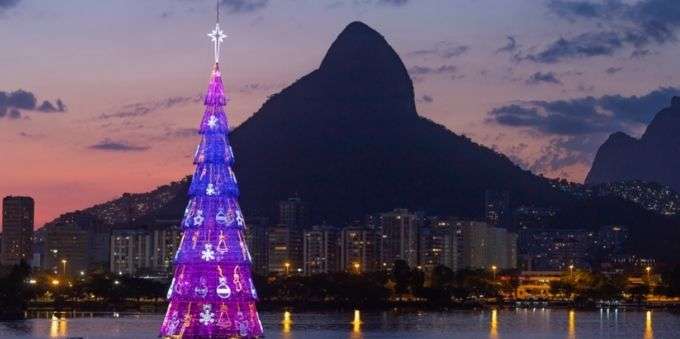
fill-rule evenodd
<path id="1" fill-rule="evenodd" d="M 219 11 L 218 11 L 219 22 Z M 245 220 L 238 205 L 232 171 L 234 155 L 219 68 L 219 23 L 209 34 L 215 43 L 215 67 L 199 127 L 196 171 L 182 220 L 183 235 L 168 290 L 168 310 L 161 336 L 170 338 L 255 338 L 262 336 L 257 293 L 246 247 Z"/>

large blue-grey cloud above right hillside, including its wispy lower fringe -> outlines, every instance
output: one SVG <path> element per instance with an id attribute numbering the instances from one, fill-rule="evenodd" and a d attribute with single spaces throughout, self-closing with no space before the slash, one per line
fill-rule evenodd
<path id="1" fill-rule="evenodd" d="M 662 87 L 641 96 L 518 102 L 494 108 L 487 122 L 547 137 L 541 156 L 522 164 L 536 173 L 555 173 L 569 166 L 590 165 L 609 134 L 639 133 L 679 94 L 679 87 Z"/>

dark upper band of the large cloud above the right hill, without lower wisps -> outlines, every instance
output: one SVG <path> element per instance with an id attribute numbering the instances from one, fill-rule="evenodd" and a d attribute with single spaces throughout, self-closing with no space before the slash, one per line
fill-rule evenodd
<path id="1" fill-rule="evenodd" d="M 578 136 L 626 131 L 648 124 L 680 88 L 661 87 L 643 96 L 605 95 L 556 101 L 528 101 L 494 108 L 490 122 L 546 135 Z"/>

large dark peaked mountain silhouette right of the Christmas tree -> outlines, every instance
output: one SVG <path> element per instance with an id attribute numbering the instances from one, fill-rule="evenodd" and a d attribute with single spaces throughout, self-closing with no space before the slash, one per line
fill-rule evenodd
<path id="1" fill-rule="evenodd" d="M 250 214 L 271 215 L 293 194 L 331 222 L 396 206 L 479 215 L 485 189 L 508 190 L 517 203 L 564 198 L 507 157 L 420 117 L 401 59 L 360 22 L 230 139 Z"/>

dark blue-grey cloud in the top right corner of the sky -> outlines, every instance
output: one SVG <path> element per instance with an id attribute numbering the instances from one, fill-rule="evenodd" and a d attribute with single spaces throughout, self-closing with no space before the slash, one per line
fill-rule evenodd
<path id="1" fill-rule="evenodd" d="M 554 63 L 612 55 L 627 47 L 633 48 L 634 54 L 646 51 L 637 52 L 645 54 L 648 53 L 646 46 L 676 41 L 676 31 L 680 28 L 680 1 L 677 0 L 550 0 L 548 9 L 571 22 L 593 22 L 599 30 L 560 38 L 543 51 L 528 55 L 528 60 Z"/>

